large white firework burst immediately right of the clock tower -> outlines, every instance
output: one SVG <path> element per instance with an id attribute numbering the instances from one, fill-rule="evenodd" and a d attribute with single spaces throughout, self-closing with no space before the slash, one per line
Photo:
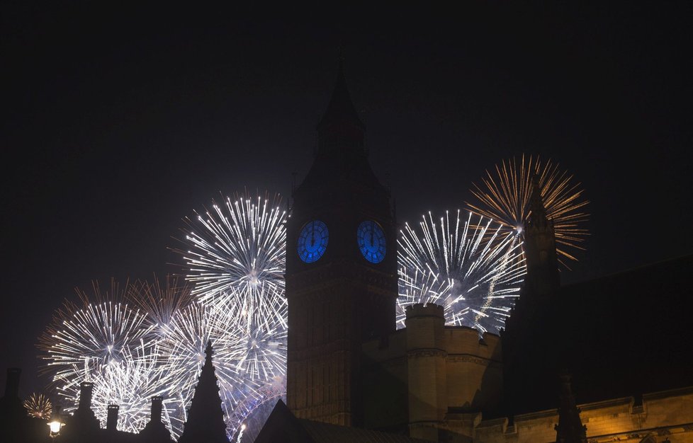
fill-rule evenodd
<path id="1" fill-rule="evenodd" d="M 405 307 L 415 303 L 444 306 L 446 324 L 492 333 L 519 297 L 525 267 L 521 243 L 500 224 L 458 211 L 436 223 L 423 216 L 419 231 L 405 224 L 398 240 L 397 326 L 405 326 Z"/>

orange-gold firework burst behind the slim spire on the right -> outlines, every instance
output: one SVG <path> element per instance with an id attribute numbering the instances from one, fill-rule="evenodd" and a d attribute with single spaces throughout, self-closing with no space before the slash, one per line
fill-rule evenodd
<path id="1" fill-rule="evenodd" d="M 478 202 L 467 203 L 475 214 L 496 220 L 509 231 L 522 236 L 522 228 L 530 214 L 530 196 L 534 176 L 539 177 L 541 199 L 548 219 L 553 221 L 556 233 L 556 253 L 563 266 L 567 260 L 577 260 L 571 253 L 583 249 L 580 243 L 589 235 L 583 226 L 589 214 L 584 212 L 589 203 L 582 197 L 580 183 L 561 171 L 551 160 L 542 163 L 531 156 L 519 163 L 515 159 L 502 161 L 495 171 L 486 171 L 481 185 L 473 185 L 472 193 Z"/>

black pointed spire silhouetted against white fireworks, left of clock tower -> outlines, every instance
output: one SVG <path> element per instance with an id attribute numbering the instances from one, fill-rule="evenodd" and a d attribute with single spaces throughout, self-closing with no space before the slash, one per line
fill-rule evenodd
<path id="1" fill-rule="evenodd" d="M 212 342 L 205 349 L 205 364 L 198 378 L 195 395 L 188 409 L 188 421 L 185 423 L 179 443 L 228 443 L 224 412 L 221 409 L 221 398 L 217 376 L 212 364 Z"/>

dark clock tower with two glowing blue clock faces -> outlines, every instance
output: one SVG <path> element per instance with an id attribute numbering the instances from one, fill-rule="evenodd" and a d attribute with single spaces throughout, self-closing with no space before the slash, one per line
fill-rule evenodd
<path id="1" fill-rule="evenodd" d="M 396 229 L 368 163 L 342 62 L 286 226 L 287 403 L 298 418 L 363 423 L 361 343 L 395 330 Z"/>

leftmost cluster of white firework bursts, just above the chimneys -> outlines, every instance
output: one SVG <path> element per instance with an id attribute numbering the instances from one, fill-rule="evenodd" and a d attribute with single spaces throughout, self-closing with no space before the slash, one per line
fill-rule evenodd
<path id="1" fill-rule="evenodd" d="M 152 331 L 147 313 L 125 302 L 128 283 L 115 280 L 102 292 L 77 289 L 79 302 L 65 300 L 39 338 L 43 371 L 50 372 L 58 395 L 67 399 L 66 411 L 77 408 L 79 384 L 94 383 L 92 405 L 101 425 L 107 406 L 120 405 L 121 430 L 138 432 L 147 422 L 150 397 L 164 386 L 154 368 L 157 347 L 145 340 Z"/>

